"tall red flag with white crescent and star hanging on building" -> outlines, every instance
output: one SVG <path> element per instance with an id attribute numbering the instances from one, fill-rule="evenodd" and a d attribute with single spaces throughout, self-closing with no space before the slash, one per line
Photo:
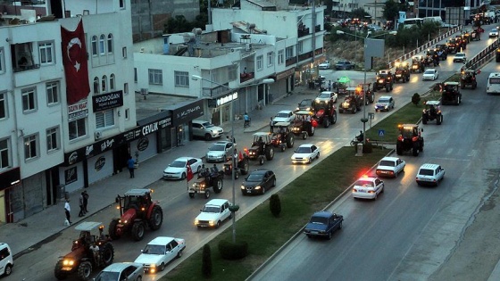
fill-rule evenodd
<path id="1" fill-rule="evenodd" d="M 90 93 L 83 22 L 79 21 L 74 31 L 61 27 L 61 38 L 64 74 L 66 75 L 66 98 L 68 104 L 78 103 Z"/>

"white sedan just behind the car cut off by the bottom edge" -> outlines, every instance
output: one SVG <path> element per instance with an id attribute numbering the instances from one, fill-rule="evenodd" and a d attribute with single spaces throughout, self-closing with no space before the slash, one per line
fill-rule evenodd
<path id="1" fill-rule="evenodd" d="M 180 258 L 184 249 L 186 249 L 186 241 L 184 239 L 159 236 L 146 244 L 146 248 L 141 250 L 142 253 L 137 257 L 135 262 L 144 265 L 144 271 L 156 273 L 163 271 L 171 260 Z"/>

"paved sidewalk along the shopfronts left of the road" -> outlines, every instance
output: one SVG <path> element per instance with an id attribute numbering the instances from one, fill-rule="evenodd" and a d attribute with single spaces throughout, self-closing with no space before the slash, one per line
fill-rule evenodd
<path id="1" fill-rule="evenodd" d="M 313 98 L 318 94 L 317 90 L 309 90 L 306 87 L 296 87 L 293 95 L 287 95 L 279 100 L 276 100 L 271 105 L 267 105 L 262 110 L 249 112 L 252 118 L 252 125 L 249 128 L 243 128 L 243 120 L 237 120 L 234 124 L 234 136 L 239 147 L 245 147 L 252 142 L 252 134 L 255 131 L 269 131 L 269 119 L 281 110 L 294 110 L 296 104 L 304 98 Z M 231 134 L 231 124 L 224 124 L 225 135 Z M 225 139 L 222 136 L 221 139 Z M 88 210 L 87 216 L 79 218 L 79 194 L 83 190 L 76 191 L 70 194 L 71 199 L 71 221 L 70 227 L 74 227 L 79 221 L 87 219 L 94 213 L 103 210 L 114 203 L 114 198 L 118 194 L 124 194 L 131 188 L 143 188 L 154 184 L 162 178 L 162 169 L 164 169 L 171 161 L 182 156 L 194 156 L 204 158 L 207 150 L 207 143 L 204 141 L 194 140 L 185 143 L 182 146 L 172 148 L 170 151 L 156 154 L 154 157 L 141 161 L 136 172 L 135 178 L 129 178 L 129 172 L 124 169 L 124 172 L 113 175 L 109 178 L 104 178 L 95 184 L 85 188 L 87 190 Z M 189 153 L 187 153 L 189 152 Z M 47 207 L 45 210 L 37 214 L 22 219 L 16 223 L 5 224 L 0 227 L 0 242 L 7 243 L 11 246 L 14 258 L 20 257 L 24 253 L 28 253 L 36 249 L 37 244 L 43 244 L 46 240 L 53 239 L 53 236 L 63 231 L 64 226 L 64 203 L 59 202 L 56 205 Z"/>

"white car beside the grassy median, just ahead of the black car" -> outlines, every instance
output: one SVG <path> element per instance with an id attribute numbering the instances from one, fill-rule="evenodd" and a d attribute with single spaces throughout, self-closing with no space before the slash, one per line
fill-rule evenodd
<path id="1" fill-rule="evenodd" d="M 204 204 L 204 209 L 195 219 L 195 226 L 201 227 L 221 227 L 221 222 L 232 218 L 229 211 L 229 201 L 226 199 L 212 199 Z"/>

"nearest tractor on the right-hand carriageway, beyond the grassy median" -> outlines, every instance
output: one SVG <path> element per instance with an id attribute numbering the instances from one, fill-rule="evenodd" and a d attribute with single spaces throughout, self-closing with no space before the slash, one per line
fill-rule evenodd
<path id="1" fill-rule="evenodd" d="M 413 156 L 419 156 L 419 153 L 423 151 L 423 137 L 421 132 L 423 128 L 419 128 L 419 125 L 415 124 L 404 124 L 398 125 L 399 136 L 397 136 L 396 141 L 396 153 L 401 155 L 404 152 L 412 151 Z"/>

